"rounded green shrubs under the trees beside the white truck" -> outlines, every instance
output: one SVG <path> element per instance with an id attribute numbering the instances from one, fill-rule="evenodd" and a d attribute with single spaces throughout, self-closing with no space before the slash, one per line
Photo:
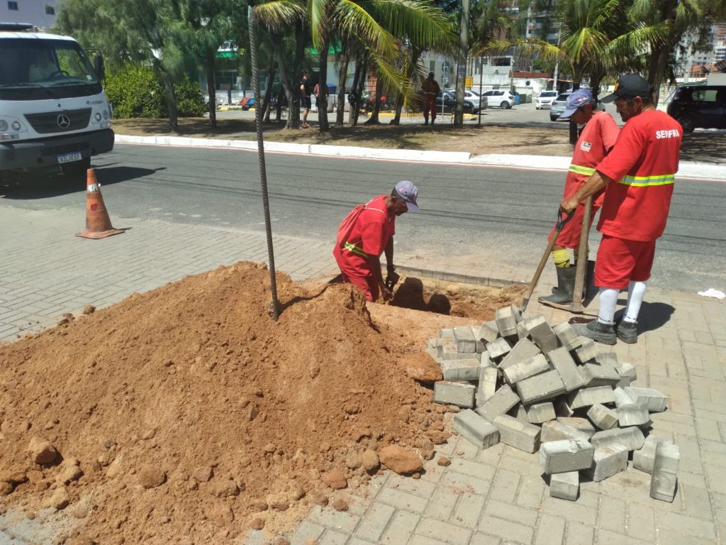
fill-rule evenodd
<path id="1" fill-rule="evenodd" d="M 144 65 L 127 64 L 109 73 L 104 84 L 115 118 L 166 117 L 166 90 L 154 71 Z M 174 84 L 179 117 L 197 117 L 205 112 L 200 86 L 188 76 Z"/>

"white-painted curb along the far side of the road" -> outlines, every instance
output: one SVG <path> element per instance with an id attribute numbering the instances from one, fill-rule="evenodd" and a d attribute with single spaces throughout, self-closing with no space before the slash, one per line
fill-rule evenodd
<path id="1" fill-rule="evenodd" d="M 257 142 L 252 140 L 223 140 L 217 138 L 192 138 L 158 136 L 133 136 L 116 134 L 118 144 L 166 145 L 184 148 L 221 148 L 237 150 L 257 150 Z M 298 144 L 296 142 L 265 142 L 265 150 L 277 153 L 299 153 L 340 158 L 383 159 L 387 161 L 412 161 L 415 163 L 459 163 L 481 166 L 511 166 L 521 169 L 566 171 L 570 166 L 569 157 L 528 156 L 507 153 L 492 153 L 472 156 L 466 151 L 436 150 L 386 150 L 383 148 L 359 148 L 356 146 L 335 146 L 322 144 Z M 708 179 L 726 182 L 726 164 L 705 164 L 682 161 L 678 170 L 679 178 Z"/>

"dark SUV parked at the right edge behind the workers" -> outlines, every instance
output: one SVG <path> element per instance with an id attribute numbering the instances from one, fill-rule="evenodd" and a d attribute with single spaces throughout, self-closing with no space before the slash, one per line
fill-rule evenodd
<path id="1" fill-rule="evenodd" d="M 726 85 L 679 87 L 668 113 L 681 124 L 683 132 L 693 132 L 696 127 L 726 129 Z"/>

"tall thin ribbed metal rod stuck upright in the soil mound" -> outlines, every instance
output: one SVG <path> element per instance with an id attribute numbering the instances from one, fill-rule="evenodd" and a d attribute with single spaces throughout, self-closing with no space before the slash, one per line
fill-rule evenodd
<path id="1" fill-rule="evenodd" d="M 265 215 L 265 233 L 267 235 L 267 259 L 269 260 L 270 291 L 272 301 L 269 306 L 269 315 L 277 322 L 280 318 L 280 302 L 277 300 L 277 281 L 274 275 L 274 250 L 272 249 L 272 224 L 270 223 L 270 204 L 267 194 L 267 171 L 265 168 L 265 145 L 262 138 L 262 111 L 260 100 L 260 79 L 257 67 L 257 36 L 255 19 L 252 14 L 253 0 L 248 0 L 247 17 L 250 33 L 250 61 L 252 62 L 252 90 L 255 94 L 255 128 L 257 130 L 257 158 L 260 163 L 260 185 L 262 187 L 262 205 Z"/>

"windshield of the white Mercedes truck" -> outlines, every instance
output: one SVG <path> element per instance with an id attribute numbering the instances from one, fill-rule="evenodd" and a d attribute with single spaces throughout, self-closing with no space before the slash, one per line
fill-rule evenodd
<path id="1" fill-rule="evenodd" d="M 75 41 L 0 39 L 0 100 L 89 96 L 101 90 Z"/>

